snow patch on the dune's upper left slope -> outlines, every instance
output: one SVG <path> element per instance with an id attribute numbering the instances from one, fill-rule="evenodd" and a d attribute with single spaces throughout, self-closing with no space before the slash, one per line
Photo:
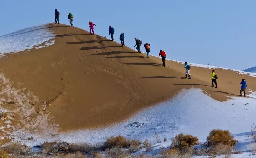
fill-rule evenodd
<path id="1" fill-rule="evenodd" d="M 33 26 L 0 36 L 0 55 L 3 53 L 41 48 L 54 44 L 55 37 L 46 25 Z M 44 45 L 41 45 L 43 44 Z"/>

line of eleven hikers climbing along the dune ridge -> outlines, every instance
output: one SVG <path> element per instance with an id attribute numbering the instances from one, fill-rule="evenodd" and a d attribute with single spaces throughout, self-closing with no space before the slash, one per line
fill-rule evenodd
<path id="1" fill-rule="evenodd" d="M 59 24 L 59 15 L 60 15 L 60 13 L 57 11 L 57 9 L 55 9 L 55 24 Z M 73 15 L 72 15 L 72 13 L 68 13 L 68 19 L 69 19 L 69 23 L 71 24 L 71 26 L 73 26 Z M 93 34 L 93 35 L 94 35 L 94 26 L 96 26 L 96 24 L 94 24 L 93 22 L 89 21 L 90 34 Z M 115 32 L 114 28 L 109 26 L 108 27 L 108 35 L 111 36 L 111 41 L 114 40 L 114 36 L 113 36 L 114 32 Z M 134 38 L 134 40 L 136 42 L 134 47 L 136 47 L 138 53 L 141 53 L 140 46 L 142 45 L 142 41 L 137 39 L 137 38 Z M 121 41 L 122 47 L 125 46 L 124 45 L 124 33 L 120 34 L 120 41 Z M 145 43 L 143 47 L 146 50 L 147 58 L 149 58 L 150 44 Z M 164 51 L 160 50 L 160 53 L 159 53 L 158 56 L 161 56 L 161 58 L 162 58 L 162 66 L 165 67 L 166 53 Z M 191 67 L 188 64 L 188 62 L 185 62 L 184 68 L 186 68 L 185 78 L 191 79 L 191 75 L 190 75 L 190 68 Z M 212 87 L 214 87 L 214 84 L 215 84 L 215 88 L 218 88 L 217 79 L 218 79 L 218 77 L 215 74 L 215 70 L 212 70 Z M 247 83 L 246 83 L 245 79 L 242 79 L 240 84 L 242 85 L 241 86 L 241 90 L 240 90 L 240 96 L 242 96 L 242 92 L 244 92 L 244 97 L 246 97 L 245 89 L 247 87 Z"/>

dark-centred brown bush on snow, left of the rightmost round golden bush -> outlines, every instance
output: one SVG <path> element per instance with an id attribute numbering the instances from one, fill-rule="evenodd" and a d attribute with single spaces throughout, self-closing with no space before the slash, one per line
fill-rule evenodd
<path id="1" fill-rule="evenodd" d="M 192 135 L 184 135 L 183 133 L 176 135 L 171 141 L 171 147 L 178 149 L 182 153 L 185 153 L 188 148 L 199 143 L 197 137 Z"/>

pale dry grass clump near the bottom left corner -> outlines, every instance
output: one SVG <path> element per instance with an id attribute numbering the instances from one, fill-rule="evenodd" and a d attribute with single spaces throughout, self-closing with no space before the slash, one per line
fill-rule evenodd
<path id="1" fill-rule="evenodd" d="M 26 145 L 22 145 L 20 143 L 10 143 L 7 146 L 3 147 L 3 149 L 9 154 L 23 155 L 23 156 L 30 156 L 33 154 L 30 147 Z"/>

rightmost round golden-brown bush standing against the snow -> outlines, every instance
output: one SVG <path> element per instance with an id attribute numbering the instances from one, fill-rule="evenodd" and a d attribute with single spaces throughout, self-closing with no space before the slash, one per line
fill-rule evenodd
<path id="1" fill-rule="evenodd" d="M 207 145 L 215 146 L 218 144 L 234 146 L 236 145 L 236 140 L 228 130 L 211 130 L 207 136 Z"/>

